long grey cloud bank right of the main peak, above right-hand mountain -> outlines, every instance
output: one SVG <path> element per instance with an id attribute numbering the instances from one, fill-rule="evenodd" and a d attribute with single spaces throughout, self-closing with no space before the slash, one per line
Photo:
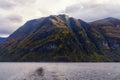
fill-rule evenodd
<path id="1" fill-rule="evenodd" d="M 119 4 L 98 4 L 98 3 L 80 3 L 69 6 L 63 11 L 70 16 L 83 19 L 85 21 L 94 21 L 106 17 L 120 18 Z"/>

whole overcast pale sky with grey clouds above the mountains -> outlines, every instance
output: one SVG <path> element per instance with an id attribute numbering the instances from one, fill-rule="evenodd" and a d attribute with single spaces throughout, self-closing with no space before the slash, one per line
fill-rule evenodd
<path id="1" fill-rule="evenodd" d="M 0 36 L 10 35 L 28 20 L 57 14 L 86 22 L 120 18 L 120 0 L 0 0 Z"/>

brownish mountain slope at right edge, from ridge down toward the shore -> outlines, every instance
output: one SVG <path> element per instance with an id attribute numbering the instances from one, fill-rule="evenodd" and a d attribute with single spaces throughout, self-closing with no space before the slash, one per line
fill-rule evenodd
<path id="1" fill-rule="evenodd" d="M 111 56 L 115 58 L 115 61 L 119 61 L 120 55 L 120 20 L 116 18 L 105 18 L 102 20 L 94 21 L 90 23 L 91 26 L 96 28 L 98 32 L 100 32 L 108 42 L 108 46 L 110 47 L 110 52 L 107 56 Z"/>

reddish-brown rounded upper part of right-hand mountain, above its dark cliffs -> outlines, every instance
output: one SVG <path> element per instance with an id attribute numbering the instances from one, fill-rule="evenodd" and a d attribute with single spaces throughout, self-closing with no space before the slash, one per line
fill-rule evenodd
<path id="1" fill-rule="evenodd" d="M 116 18 L 105 18 L 90 23 L 95 28 L 101 30 L 104 35 L 111 38 L 120 38 L 120 20 Z"/>

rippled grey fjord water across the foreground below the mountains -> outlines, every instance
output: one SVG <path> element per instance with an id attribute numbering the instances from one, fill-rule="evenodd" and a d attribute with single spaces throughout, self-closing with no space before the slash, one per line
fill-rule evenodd
<path id="1" fill-rule="evenodd" d="M 0 80 L 120 80 L 120 64 L 0 63 Z"/>

